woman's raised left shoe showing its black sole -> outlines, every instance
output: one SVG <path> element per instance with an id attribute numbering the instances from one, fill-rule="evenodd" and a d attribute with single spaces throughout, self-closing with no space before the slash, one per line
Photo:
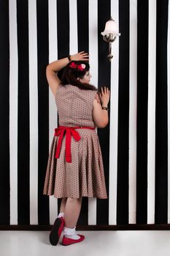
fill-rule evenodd
<path id="1" fill-rule="evenodd" d="M 57 245 L 58 244 L 61 233 L 63 231 L 63 227 L 64 227 L 63 217 L 59 217 L 59 218 L 55 219 L 53 228 L 50 232 L 50 243 L 52 245 Z"/>

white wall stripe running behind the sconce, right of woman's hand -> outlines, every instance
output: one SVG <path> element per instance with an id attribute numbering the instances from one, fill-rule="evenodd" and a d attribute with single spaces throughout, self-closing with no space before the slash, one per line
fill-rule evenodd
<path id="1" fill-rule="evenodd" d="M 111 16 L 119 28 L 118 0 L 111 1 Z M 107 21 L 107 20 L 106 20 Z M 121 33 L 121 31 L 120 31 Z M 101 38 L 102 40 L 102 38 Z M 109 45 L 106 43 L 109 49 Z M 109 225 L 116 225 L 117 218 L 117 118 L 119 78 L 119 37 L 112 43 L 111 94 L 110 94 L 110 143 L 109 143 Z"/>

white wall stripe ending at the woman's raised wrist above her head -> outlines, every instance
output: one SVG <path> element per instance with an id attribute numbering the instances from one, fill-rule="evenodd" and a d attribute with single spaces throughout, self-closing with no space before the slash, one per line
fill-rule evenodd
<path id="1" fill-rule="evenodd" d="M 70 54 L 77 53 L 77 0 L 69 0 L 69 31 L 70 31 Z"/>

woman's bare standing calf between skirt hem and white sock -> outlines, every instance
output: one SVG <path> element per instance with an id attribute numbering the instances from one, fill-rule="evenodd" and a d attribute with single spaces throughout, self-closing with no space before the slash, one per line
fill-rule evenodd
<path id="1" fill-rule="evenodd" d="M 66 207 L 64 210 L 65 227 L 73 228 L 77 225 L 77 220 L 80 215 L 81 206 L 82 206 L 82 197 L 67 198 Z"/>

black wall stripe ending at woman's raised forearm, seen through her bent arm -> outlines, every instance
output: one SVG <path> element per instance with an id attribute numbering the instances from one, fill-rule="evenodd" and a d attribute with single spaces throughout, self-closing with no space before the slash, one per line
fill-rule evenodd
<path id="1" fill-rule="evenodd" d="M 63 26 L 64 24 L 64 26 Z M 64 29 L 64 30 L 63 30 Z M 58 59 L 69 56 L 69 0 L 57 1 L 57 31 L 58 31 Z M 61 72 L 58 72 L 60 78 Z M 59 116 L 58 116 L 59 125 Z M 61 206 L 61 198 L 58 198 L 58 213 Z"/>

